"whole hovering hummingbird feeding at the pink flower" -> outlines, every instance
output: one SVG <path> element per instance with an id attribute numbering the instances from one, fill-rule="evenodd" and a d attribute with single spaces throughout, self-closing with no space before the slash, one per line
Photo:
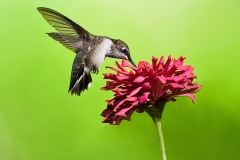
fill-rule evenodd
<path id="1" fill-rule="evenodd" d="M 66 48 L 76 53 L 68 92 L 80 96 L 91 83 L 91 73 L 98 74 L 98 67 L 106 57 L 125 59 L 136 67 L 128 45 L 120 39 L 93 35 L 63 14 L 50 8 L 38 7 L 38 12 L 56 29 L 47 33 Z"/>

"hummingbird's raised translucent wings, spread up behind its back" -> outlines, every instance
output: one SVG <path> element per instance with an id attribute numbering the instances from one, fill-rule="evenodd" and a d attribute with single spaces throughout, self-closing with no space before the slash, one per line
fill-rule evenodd
<path id="1" fill-rule="evenodd" d="M 45 7 L 38 7 L 37 10 L 58 31 L 48 35 L 75 53 L 82 49 L 84 42 L 91 39 L 88 31 L 61 13 Z"/>

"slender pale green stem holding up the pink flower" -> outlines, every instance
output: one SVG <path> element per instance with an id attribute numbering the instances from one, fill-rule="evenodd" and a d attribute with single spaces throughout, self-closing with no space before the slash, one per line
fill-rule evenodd
<path id="1" fill-rule="evenodd" d="M 160 148 L 161 148 L 161 153 L 162 153 L 162 160 L 167 160 L 165 147 L 164 147 L 163 134 L 162 134 L 161 118 L 158 118 L 158 117 L 152 117 L 152 118 L 153 118 L 153 120 L 156 124 L 156 127 L 157 127 L 158 138 L 159 138 L 159 141 L 160 141 Z"/>

